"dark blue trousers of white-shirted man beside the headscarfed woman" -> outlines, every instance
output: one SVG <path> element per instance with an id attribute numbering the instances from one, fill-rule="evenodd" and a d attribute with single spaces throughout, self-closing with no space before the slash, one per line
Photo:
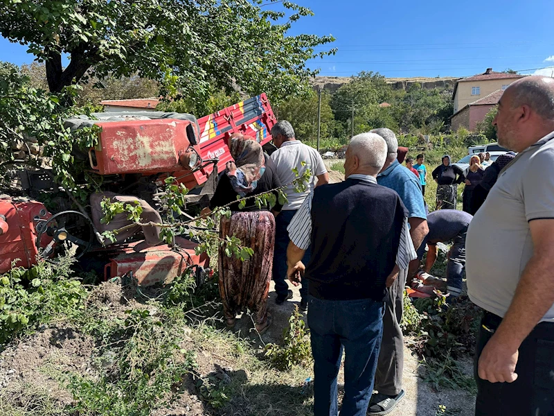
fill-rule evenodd
<path id="1" fill-rule="evenodd" d="M 287 247 L 289 246 L 289 232 L 287 227 L 296 214 L 296 209 L 289 211 L 280 211 L 275 217 L 275 249 L 273 256 L 273 279 L 275 281 L 275 291 L 278 297 L 287 296 L 289 285 L 287 284 Z M 302 259 L 304 266 L 310 261 L 310 249 L 308 248 Z M 302 299 L 307 299 L 307 280 L 303 279 L 300 289 Z"/>

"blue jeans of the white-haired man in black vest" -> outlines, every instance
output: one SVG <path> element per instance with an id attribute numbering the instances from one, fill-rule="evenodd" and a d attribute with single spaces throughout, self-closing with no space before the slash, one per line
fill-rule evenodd
<path id="1" fill-rule="evenodd" d="M 384 302 L 309 297 L 307 323 L 314 357 L 314 415 L 337 416 L 337 374 L 344 360 L 341 416 L 365 416 L 377 369 Z"/>

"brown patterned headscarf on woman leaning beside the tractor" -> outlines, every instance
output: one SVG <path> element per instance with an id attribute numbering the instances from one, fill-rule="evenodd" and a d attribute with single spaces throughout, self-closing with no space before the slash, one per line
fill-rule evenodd
<path id="1" fill-rule="evenodd" d="M 264 151 L 256 140 L 238 133 L 229 138 L 229 150 L 235 162 L 227 162 L 226 174 L 235 192 L 247 196 L 265 172 Z"/>

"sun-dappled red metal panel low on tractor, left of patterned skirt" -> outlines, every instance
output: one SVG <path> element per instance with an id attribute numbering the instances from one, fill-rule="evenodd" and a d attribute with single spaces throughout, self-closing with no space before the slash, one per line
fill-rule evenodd
<path id="1" fill-rule="evenodd" d="M 133 243 L 126 245 L 123 252 L 107 263 L 105 279 L 132 273 L 139 286 L 168 284 L 189 266 L 209 267 L 206 253 L 195 254 L 196 243 L 180 237 L 175 237 L 175 243 L 179 246 L 177 251 L 163 244 L 135 252 Z"/>

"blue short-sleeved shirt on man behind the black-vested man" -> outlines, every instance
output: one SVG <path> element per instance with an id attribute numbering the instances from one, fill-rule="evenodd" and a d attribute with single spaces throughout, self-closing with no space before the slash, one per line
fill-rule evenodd
<path id="1" fill-rule="evenodd" d="M 377 184 L 393 189 L 408 210 L 408 218 L 427 219 L 420 181 L 397 160 L 377 176 Z"/>

